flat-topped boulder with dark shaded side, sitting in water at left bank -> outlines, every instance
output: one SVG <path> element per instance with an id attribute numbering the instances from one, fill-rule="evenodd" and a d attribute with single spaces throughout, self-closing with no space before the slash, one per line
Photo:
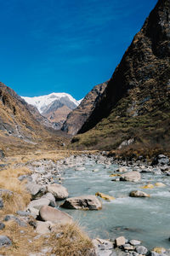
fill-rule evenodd
<path id="1" fill-rule="evenodd" d="M 67 198 L 61 207 L 77 210 L 99 210 L 102 205 L 95 195 L 82 195 Z"/>

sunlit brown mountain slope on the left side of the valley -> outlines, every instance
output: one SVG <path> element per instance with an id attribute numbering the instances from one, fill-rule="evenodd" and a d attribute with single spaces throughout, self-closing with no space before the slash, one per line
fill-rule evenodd
<path id="1" fill-rule="evenodd" d="M 36 144 L 37 148 L 40 144 L 45 147 L 48 141 L 57 147 L 65 141 L 61 132 L 47 127 L 48 120 L 36 108 L 3 83 L 0 83 L 0 109 L 0 148 L 4 150 L 16 148 L 20 151 Z"/>

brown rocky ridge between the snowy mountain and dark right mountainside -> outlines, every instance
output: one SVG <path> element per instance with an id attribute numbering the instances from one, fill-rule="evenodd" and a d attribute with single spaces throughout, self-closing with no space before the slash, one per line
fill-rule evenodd
<path id="1" fill-rule="evenodd" d="M 82 125 L 87 121 L 88 117 L 94 111 L 96 104 L 105 90 L 108 82 L 98 84 L 84 97 L 80 105 L 73 110 L 67 117 L 61 130 L 68 134 L 76 135 L 82 129 Z"/>

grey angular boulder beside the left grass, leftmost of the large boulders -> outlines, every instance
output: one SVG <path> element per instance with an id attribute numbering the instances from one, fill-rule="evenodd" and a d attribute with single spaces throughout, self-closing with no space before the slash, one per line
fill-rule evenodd
<path id="1" fill-rule="evenodd" d="M 26 189 L 31 194 L 32 199 L 37 199 L 45 194 L 45 187 L 38 185 L 37 183 L 26 183 Z"/>

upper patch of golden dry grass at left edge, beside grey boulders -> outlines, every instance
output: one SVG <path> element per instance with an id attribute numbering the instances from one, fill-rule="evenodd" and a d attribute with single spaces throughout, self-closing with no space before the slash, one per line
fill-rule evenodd
<path id="1" fill-rule="evenodd" d="M 3 192 L 1 195 L 4 202 L 1 213 L 14 213 L 22 210 L 31 200 L 31 195 L 26 191 L 24 183 L 18 180 L 23 174 L 30 173 L 30 170 L 23 167 L 18 169 L 8 168 L 0 172 L 0 189 L 8 189 L 14 192 L 12 195 Z"/>

